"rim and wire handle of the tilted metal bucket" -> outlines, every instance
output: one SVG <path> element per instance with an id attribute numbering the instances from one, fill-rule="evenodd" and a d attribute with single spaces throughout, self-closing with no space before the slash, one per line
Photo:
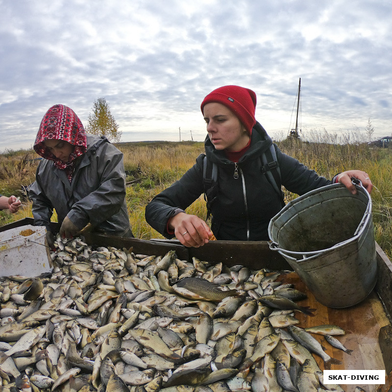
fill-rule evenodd
<path id="1" fill-rule="evenodd" d="M 371 202 L 371 197 L 370 194 L 368 193 L 367 189 L 363 186 L 361 180 L 352 177 L 351 178 L 351 182 L 353 185 L 355 185 L 355 187 L 357 188 L 357 192 L 358 191 L 362 191 L 364 192 L 365 196 L 368 197 L 368 204 L 364 213 L 364 216 L 362 217 L 361 221 L 358 224 L 357 229 L 354 232 L 354 235 L 347 239 L 344 240 L 338 244 L 335 244 L 333 246 L 330 246 L 328 248 L 325 249 L 319 249 L 319 250 L 313 250 L 313 251 L 307 251 L 307 252 L 299 252 L 299 251 L 294 251 L 294 250 L 288 250 L 288 249 L 284 249 L 279 247 L 279 244 L 272 241 L 272 224 L 273 222 L 275 222 L 283 213 L 285 213 L 289 208 L 291 208 L 293 205 L 297 204 L 298 202 L 302 201 L 304 198 L 312 196 L 314 194 L 318 194 L 320 192 L 325 192 L 329 189 L 338 189 L 338 188 L 346 188 L 345 185 L 343 184 L 329 184 L 329 185 L 325 185 L 323 187 L 314 189 L 304 195 L 298 196 L 296 197 L 294 200 L 290 201 L 288 204 L 286 204 L 271 220 L 270 223 L 268 225 L 268 235 L 270 237 L 270 241 L 269 241 L 269 246 L 271 250 L 276 250 L 278 251 L 282 256 L 285 256 L 285 254 L 287 253 L 288 255 L 300 255 L 302 256 L 302 258 L 300 259 L 300 261 L 306 260 L 307 256 L 312 257 L 315 255 L 319 255 L 325 252 L 329 252 L 332 251 L 338 247 L 342 247 L 343 245 L 349 244 L 352 241 L 356 241 L 358 240 L 358 238 L 362 235 L 363 231 L 365 230 L 368 221 L 371 219 L 371 210 L 372 210 L 372 202 Z M 348 190 L 347 190 L 348 191 Z M 349 192 L 349 191 L 348 191 Z M 355 195 L 352 195 L 355 196 Z"/>

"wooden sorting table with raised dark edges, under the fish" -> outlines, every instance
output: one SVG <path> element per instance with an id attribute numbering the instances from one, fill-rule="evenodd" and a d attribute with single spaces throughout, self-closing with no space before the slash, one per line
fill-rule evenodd
<path id="1" fill-rule="evenodd" d="M 0 227 L 0 232 L 32 224 L 31 218 L 10 223 Z M 58 230 L 58 224 L 53 223 L 53 231 Z M 298 302 L 301 306 L 315 308 L 315 317 L 296 313 L 300 327 L 320 324 L 335 324 L 342 327 L 346 334 L 339 340 L 353 350 L 351 355 L 335 349 L 325 343 L 322 336 L 315 336 L 333 358 L 342 361 L 342 365 L 332 365 L 332 370 L 386 370 L 385 384 L 340 384 L 344 391 L 354 392 L 360 386 L 367 392 L 392 392 L 392 263 L 378 244 L 377 251 L 377 284 L 372 293 L 361 303 L 349 308 L 332 309 L 320 304 L 299 276 L 291 271 L 286 260 L 277 252 L 270 250 L 268 242 L 241 241 L 210 241 L 199 248 L 187 248 L 176 240 L 139 240 L 123 239 L 116 236 L 85 233 L 85 240 L 90 245 L 115 246 L 132 248 L 134 253 L 147 255 L 165 255 L 169 250 L 175 250 L 177 257 L 192 261 L 192 257 L 208 262 L 222 262 L 228 267 L 244 265 L 253 270 L 266 268 L 269 270 L 286 270 L 282 274 L 284 282 L 294 283 L 294 287 L 308 295 L 308 298 Z M 0 261 L 1 262 L 1 261 Z M 344 290 L 344 288 L 342 288 Z M 339 295 L 339 293 L 336 293 Z M 324 343 L 324 344 L 323 344 Z M 316 356 L 315 356 L 316 358 Z M 324 364 L 316 358 L 321 369 Z"/>

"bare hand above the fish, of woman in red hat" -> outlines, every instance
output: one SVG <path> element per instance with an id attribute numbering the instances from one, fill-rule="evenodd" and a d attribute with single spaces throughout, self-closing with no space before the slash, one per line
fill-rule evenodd
<path id="1" fill-rule="evenodd" d="M 199 247 L 208 243 L 212 231 L 207 223 L 196 215 L 180 212 L 169 221 L 169 227 L 174 229 L 174 234 L 184 246 Z"/>

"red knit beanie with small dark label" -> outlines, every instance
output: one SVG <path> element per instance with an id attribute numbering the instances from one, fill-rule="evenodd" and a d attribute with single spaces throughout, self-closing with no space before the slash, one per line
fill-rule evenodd
<path id="1" fill-rule="evenodd" d="M 208 94 L 201 102 L 201 113 L 204 105 L 218 102 L 227 106 L 244 124 L 249 136 L 252 134 L 253 125 L 256 123 L 254 112 L 256 109 L 256 94 L 240 86 L 223 86 Z"/>

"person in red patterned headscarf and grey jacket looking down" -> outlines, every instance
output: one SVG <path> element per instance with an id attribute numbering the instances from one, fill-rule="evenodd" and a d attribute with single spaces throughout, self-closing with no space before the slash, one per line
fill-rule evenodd
<path id="1" fill-rule="evenodd" d="M 56 210 L 60 235 L 72 238 L 88 223 L 98 232 L 133 237 L 125 204 L 123 153 L 105 137 L 86 134 L 75 112 L 54 105 L 34 143 L 44 159 L 29 189 L 34 224 L 47 227 Z"/>

